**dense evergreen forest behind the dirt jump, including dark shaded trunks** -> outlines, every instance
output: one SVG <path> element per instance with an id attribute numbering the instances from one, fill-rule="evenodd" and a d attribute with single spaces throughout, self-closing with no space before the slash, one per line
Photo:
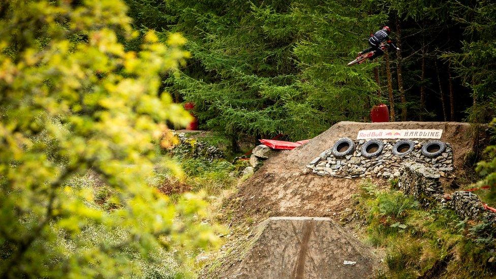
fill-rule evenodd
<path id="1" fill-rule="evenodd" d="M 193 59 L 164 83 L 177 102 L 196 103 L 204 129 L 232 137 L 283 133 L 299 140 L 337 121 L 367 120 L 372 105 L 386 102 L 377 95 L 371 71 L 379 69 L 385 91 L 383 59 L 346 64 L 385 24 L 393 27 L 393 41 L 402 42 L 401 61 L 389 56 L 392 101 L 408 109 L 409 120 L 444 120 L 450 109 L 453 120 L 469 115 L 485 122 L 494 116 L 496 13 L 490 1 L 126 2 L 143 31 L 158 30 L 164 37 L 181 32 L 189 39 Z M 398 96 L 399 83 L 404 96 Z"/>

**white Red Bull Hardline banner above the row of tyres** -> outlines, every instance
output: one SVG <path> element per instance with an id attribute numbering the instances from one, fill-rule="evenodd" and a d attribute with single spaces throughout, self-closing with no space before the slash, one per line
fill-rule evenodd
<path id="1" fill-rule="evenodd" d="M 409 130 L 360 130 L 359 139 L 440 139 L 443 130 L 409 129 Z"/>

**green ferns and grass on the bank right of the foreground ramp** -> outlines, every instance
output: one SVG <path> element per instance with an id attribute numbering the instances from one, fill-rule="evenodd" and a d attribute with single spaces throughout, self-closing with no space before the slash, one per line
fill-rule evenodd
<path id="1" fill-rule="evenodd" d="M 468 278 L 496 270 L 488 262 L 495 256 L 493 225 L 470 225 L 445 208 L 421 209 L 412 197 L 371 183 L 358 200 L 369 242 L 386 250 L 387 276 Z"/>

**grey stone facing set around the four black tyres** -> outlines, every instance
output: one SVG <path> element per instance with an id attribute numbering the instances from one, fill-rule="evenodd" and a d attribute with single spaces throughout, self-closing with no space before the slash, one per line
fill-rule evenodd
<path id="1" fill-rule="evenodd" d="M 421 147 L 426 142 L 415 140 L 413 150 L 403 156 L 393 154 L 392 149 L 399 140 L 383 140 L 384 149 L 377 157 L 366 158 L 361 154 L 365 140 L 357 140 L 355 150 L 345 158 L 335 158 L 332 148 L 325 150 L 306 167 L 304 172 L 313 172 L 318 175 L 331 175 L 335 177 L 383 177 L 395 178 L 401 174 L 402 163 L 419 163 L 437 170 L 440 176 L 454 177 L 453 152 L 451 146 L 446 144 L 446 150 L 437 158 L 426 158 L 421 153 Z"/>

